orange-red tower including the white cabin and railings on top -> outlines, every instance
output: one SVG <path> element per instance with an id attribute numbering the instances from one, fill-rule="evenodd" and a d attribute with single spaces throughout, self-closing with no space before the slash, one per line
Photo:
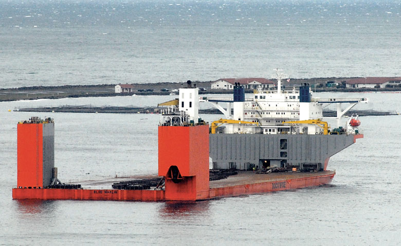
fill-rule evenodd
<path id="1" fill-rule="evenodd" d="M 163 111 L 158 130 L 159 175 L 166 200 L 209 198 L 209 125 L 198 117 L 198 89 L 179 90 L 179 103 Z M 177 108 L 178 106 L 178 108 Z"/>

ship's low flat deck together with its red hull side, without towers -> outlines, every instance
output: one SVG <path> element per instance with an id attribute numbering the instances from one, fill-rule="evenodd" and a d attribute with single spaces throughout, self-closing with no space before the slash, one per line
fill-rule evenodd
<path id="1" fill-rule="evenodd" d="M 298 189 L 319 186 L 331 182 L 335 175 L 333 171 L 320 172 L 279 172 L 257 173 L 239 171 L 227 179 L 210 181 L 209 189 L 185 193 L 184 195 L 166 197 L 166 191 L 161 189 L 113 189 L 112 184 L 121 181 L 160 178 L 155 175 L 138 175 L 127 178 L 112 178 L 106 180 L 80 182 L 82 188 L 13 188 L 13 199 L 42 200 L 116 200 L 116 201 L 197 201 L 221 197 L 250 195 L 270 191 Z M 154 182 L 154 181 L 153 181 Z M 69 183 L 77 184 L 77 183 Z M 188 195 L 189 194 L 189 195 Z M 195 197 L 196 196 L 196 197 Z"/>

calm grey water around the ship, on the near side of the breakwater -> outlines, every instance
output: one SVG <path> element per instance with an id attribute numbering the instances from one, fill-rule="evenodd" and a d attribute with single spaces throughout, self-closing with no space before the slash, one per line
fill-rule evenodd
<path id="1" fill-rule="evenodd" d="M 401 94 L 368 97 L 373 108 L 401 111 Z M 174 96 L 172 96 L 174 97 Z M 401 116 L 360 117 L 363 139 L 331 158 L 330 185 L 196 203 L 15 201 L 16 122 L 55 120 L 55 161 L 62 181 L 156 172 L 158 115 L 8 112 L 63 104 L 150 105 L 169 97 L 76 98 L 1 102 L 0 244 L 399 245 Z M 207 107 L 207 106 L 204 106 Z M 202 115 L 206 120 L 220 115 Z M 86 174 L 89 173 L 89 174 Z"/>

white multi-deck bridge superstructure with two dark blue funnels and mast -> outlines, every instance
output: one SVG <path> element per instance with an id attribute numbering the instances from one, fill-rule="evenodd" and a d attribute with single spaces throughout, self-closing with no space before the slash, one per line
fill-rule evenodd
<path id="1" fill-rule="evenodd" d="M 340 118 L 360 101 L 357 99 L 320 99 L 312 98 L 312 91 L 308 84 L 304 84 L 296 90 L 282 90 L 282 79 L 286 76 L 279 75 L 276 70 L 278 83 L 277 90 L 255 90 L 251 98 L 235 98 L 235 94 L 243 93 L 240 84 L 234 86 L 234 99 L 229 98 L 207 98 L 213 106 L 219 109 L 227 119 L 244 120 L 256 122 L 257 125 L 229 124 L 226 125 L 225 133 L 262 133 L 262 134 L 322 134 L 323 129 L 316 124 L 283 124 L 285 121 L 299 121 L 322 119 L 323 104 L 337 103 L 337 127 Z M 239 99 L 240 98 L 240 99 Z M 226 103 L 223 107 L 220 103 Z M 345 110 L 341 110 L 341 103 L 350 103 Z M 233 112 L 231 113 L 231 109 Z"/>

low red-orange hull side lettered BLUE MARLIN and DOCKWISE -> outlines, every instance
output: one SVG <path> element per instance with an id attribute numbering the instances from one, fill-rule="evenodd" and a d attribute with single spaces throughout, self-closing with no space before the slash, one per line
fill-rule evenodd
<path id="1" fill-rule="evenodd" d="M 282 191 L 290 189 L 299 189 L 305 187 L 319 186 L 329 184 L 335 173 L 332 171 L 324 171 L 319 173 L 312 173 L 309 177 L 297 178 L 299 173 L 294 173 L 294 178 L 290 179 L 274 179 L 274 181 L 238 184 L 234 186 L 223 186 L 230 183 L 228 178 L 222 185 L 214 185 L 210 182 L 211 186 L 218 186 L 210 188 L 202 194 L 204 197 L 200 199 L 185 199 L 185 201 L 198 201 L 223 197 L 233 197 L 241 195 L 251 195 L 271 191 Z M 258 174 L 254 174 L 258 175 Z M 259 174 L 271 175 L 271 174 Z M 251 180 L 250 180 L 251 181 Z M 177 201 L 181 199 L 166 199 L 165 190 L 118 190 L 118 189 L 28 189 L 28 188 L 14 188 L 12 189 L 13 199 L 39 199 L 39 200 L 114 200 L 114 201 L 143 201 L 143 202 L 158 202 L 158 201 Z"/>

